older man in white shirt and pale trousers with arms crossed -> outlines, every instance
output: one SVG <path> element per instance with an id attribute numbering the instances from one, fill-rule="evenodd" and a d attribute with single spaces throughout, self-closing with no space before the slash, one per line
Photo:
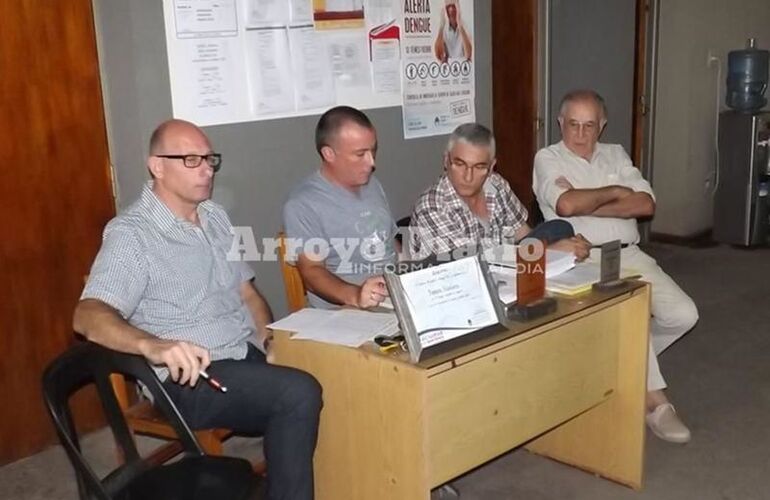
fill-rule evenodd
<path id="1" fill-rule="evenodd" d="M 533 188 L 540 209 L 547 220 L 569 221 L 575 232 L 594 245 L 620 240 L 621 265 L 652 284 L 647 424 L 661 439 L 686 443 L 690 430 L 663 392 L 666 382 L 657 356 L 695 325 L 698 310 L 637 246 L 636 219 L 655 213 L 655 195 L 622 146 L 599 142 L 607 124 L 599 94 L 591 90 L 568 93 L 558 120 L 562 141 L 535 156 Z M 598 258 L 599 250 L 592 250 L 591 259 Z"/>

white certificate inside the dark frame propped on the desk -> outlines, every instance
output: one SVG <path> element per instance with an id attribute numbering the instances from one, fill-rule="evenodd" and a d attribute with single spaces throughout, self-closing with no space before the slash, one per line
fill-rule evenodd
<path id="1" fill-rule="evenodd" d="M 423 348 L 498 322 L 476 258 L 414 271 L 399 279 Z"/>

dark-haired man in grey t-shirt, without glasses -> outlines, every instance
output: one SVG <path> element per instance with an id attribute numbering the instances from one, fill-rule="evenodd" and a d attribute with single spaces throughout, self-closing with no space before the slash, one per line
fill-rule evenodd
<path id="1" fill-rule="evenodd" d="M 311 305 L 377 306 L 388 295 L 382 272 L 396 262 L 396 225 L 372 175 L 377 133 L 364 113 L 338 106 L 318 121 L 316 149 L 321 168 L 283 207 L 289 260 Z"/>

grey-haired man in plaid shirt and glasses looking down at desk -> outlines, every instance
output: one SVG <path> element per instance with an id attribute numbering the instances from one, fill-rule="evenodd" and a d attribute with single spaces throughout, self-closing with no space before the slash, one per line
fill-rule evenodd
<path id="1" fill-rule="evenodd" d="M 479 247 L 531 236 L 585 259 L 591 244 L 574 235 L 569 223 L 549 221 L 534 231 L 529 227 L 527 210 L 494 171 L 495 162 L 495 139 L 488 128 L 466 123 L 452 132 L 444 174 L 420 196 L 412 212 L 411 257 L 423 259 L 456 250 L 475 253 Z"/>

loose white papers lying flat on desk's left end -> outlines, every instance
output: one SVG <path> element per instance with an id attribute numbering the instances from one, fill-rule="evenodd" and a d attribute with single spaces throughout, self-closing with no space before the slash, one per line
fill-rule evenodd
<path id="1" fill-rule="evenodd" d="M 296 332 L 292 339 L 358 347 L 377 335 L 397 333 L 398 319 L 393 313 L 307 307 L 267 326 L 274 330 Z"/>

